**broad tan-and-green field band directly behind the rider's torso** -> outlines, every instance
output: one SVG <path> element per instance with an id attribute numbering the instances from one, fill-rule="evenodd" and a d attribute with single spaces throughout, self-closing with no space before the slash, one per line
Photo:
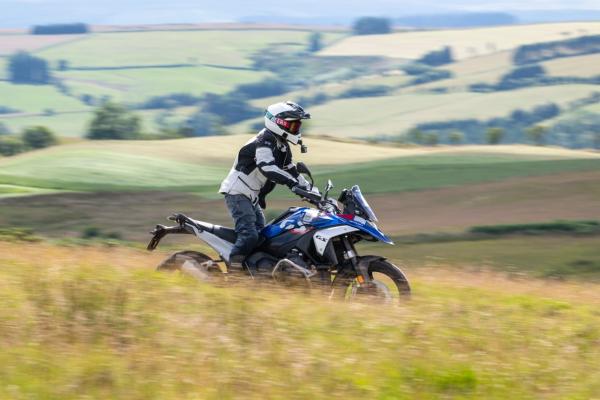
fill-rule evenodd
<path id="1" fill-rule="evenodd" d="M 248 138 L 82 142 L 52 147 L 0 160 L 0 183 L 75 191 L 173 189 L 199 191 L 214 197 L 216 186 L 227 174 L 235 152 Z M 497 154 L 489 154 L 482 150 L 478 153 L 478 147 L 466 147 L 463 151 L 446 148 L 436 152 L 332 144 L 318 139 L 307 143 L 312 151 L 309 157 L 301 159 L 313 166 L 318 183 L 322 184 L 329 177 L 340 186 L 358 182 L 369 193 L 585 171 L 600 165 L 594 153 L 560 149 L 529 148 L 529 154 L 526 151 L 513 154 L 507 146 L 495 150 Z M 332 146 L 337 156 L 331 155 Z M 206 149 L 210 149 L 210 153 Z M 557 157 L 563 160 L 556 160 Z M 596 158 L 569 160 L 569 157 Z M 349 159 L 353 164 L 348 165 Z M 357 164 L 361 161 L 364 164 Z"/>

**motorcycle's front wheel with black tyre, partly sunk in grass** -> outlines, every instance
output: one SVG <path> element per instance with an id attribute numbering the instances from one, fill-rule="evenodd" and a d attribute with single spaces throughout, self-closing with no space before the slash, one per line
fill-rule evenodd
<path id="1" fill-rule="evenodd" d="M 361 300 L 394 304 L 410 297 L 410 284 L 404 272 L 382 258 L 375 258 L 368 266 L 368 284 L 359 284 L 357 279 L 342 284 L 341 296 L 345 300 Z"/>

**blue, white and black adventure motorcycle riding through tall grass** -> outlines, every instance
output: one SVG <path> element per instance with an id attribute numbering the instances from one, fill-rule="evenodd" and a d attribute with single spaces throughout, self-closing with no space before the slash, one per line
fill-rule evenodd
<path id="1" fill-rule="evenodd" d="M 148 250 L 156 249 L 166 235 L 192 234 L 208 244 L 219 258 L 197 251 L 180 251 L 164 260 L 157 270 L 179 270 L 202 281 L 238 276 L 278 283 L 301 282 L 321 287 L 330 297 L 341 299 L 370 296 L 392 303 L 409 296 L 410 285 L 399 267 L 385 257 L 361 256 L 356 250 L 361 241 L 393 245 L 377 227 L 377 217 L 360 187 L 344 189 L 336 201 L 329 197 L 331 180 L 321 195 L 313 189 L 314 180 L 308 167 L 298 163 L 297 169 L 310 179 L 311 187 L 308 190 L 296 187 L 293 191 L 314 207 L 291 207 L 270 221 L 242 270 L 229 265 L 237 237 L 235 230 L 184 214 L 168 217 L 177 223 L 175 226 L 156 225 L 150 232 Z"/>

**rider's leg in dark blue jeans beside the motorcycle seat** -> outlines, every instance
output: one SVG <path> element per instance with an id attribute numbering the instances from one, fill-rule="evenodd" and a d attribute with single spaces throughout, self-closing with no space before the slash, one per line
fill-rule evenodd
<path id="1" fill-rule="evenodd" d="M 246 256 L 258 243 L 256 211 L 250 199 L 241 194 L 225 195 L 225 203 L 235 221 L 237 233 L 237 240 L 231 250 L 229 261 L 232 267 L 241 268 Z"/>

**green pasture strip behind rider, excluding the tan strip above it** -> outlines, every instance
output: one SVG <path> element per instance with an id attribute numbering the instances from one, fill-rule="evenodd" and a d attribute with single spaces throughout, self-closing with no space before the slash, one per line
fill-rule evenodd
<path id="1" fill-rule="evenodd" d="M 193 150 L 195 147 L 178 155 L 181 143 L 82 143 L 25 153 L 0 160 L 0 183 L 82 191 L 175 189 L 214 196 L 231 161 L 203 155 L 203 150 Z M 589 171 L 599 168 L 600 160 L 446 153 L 311 167 L 319 185 L 332 178 L 338 187 L 358 183 L 367 193 L 387 193 Z"/>

